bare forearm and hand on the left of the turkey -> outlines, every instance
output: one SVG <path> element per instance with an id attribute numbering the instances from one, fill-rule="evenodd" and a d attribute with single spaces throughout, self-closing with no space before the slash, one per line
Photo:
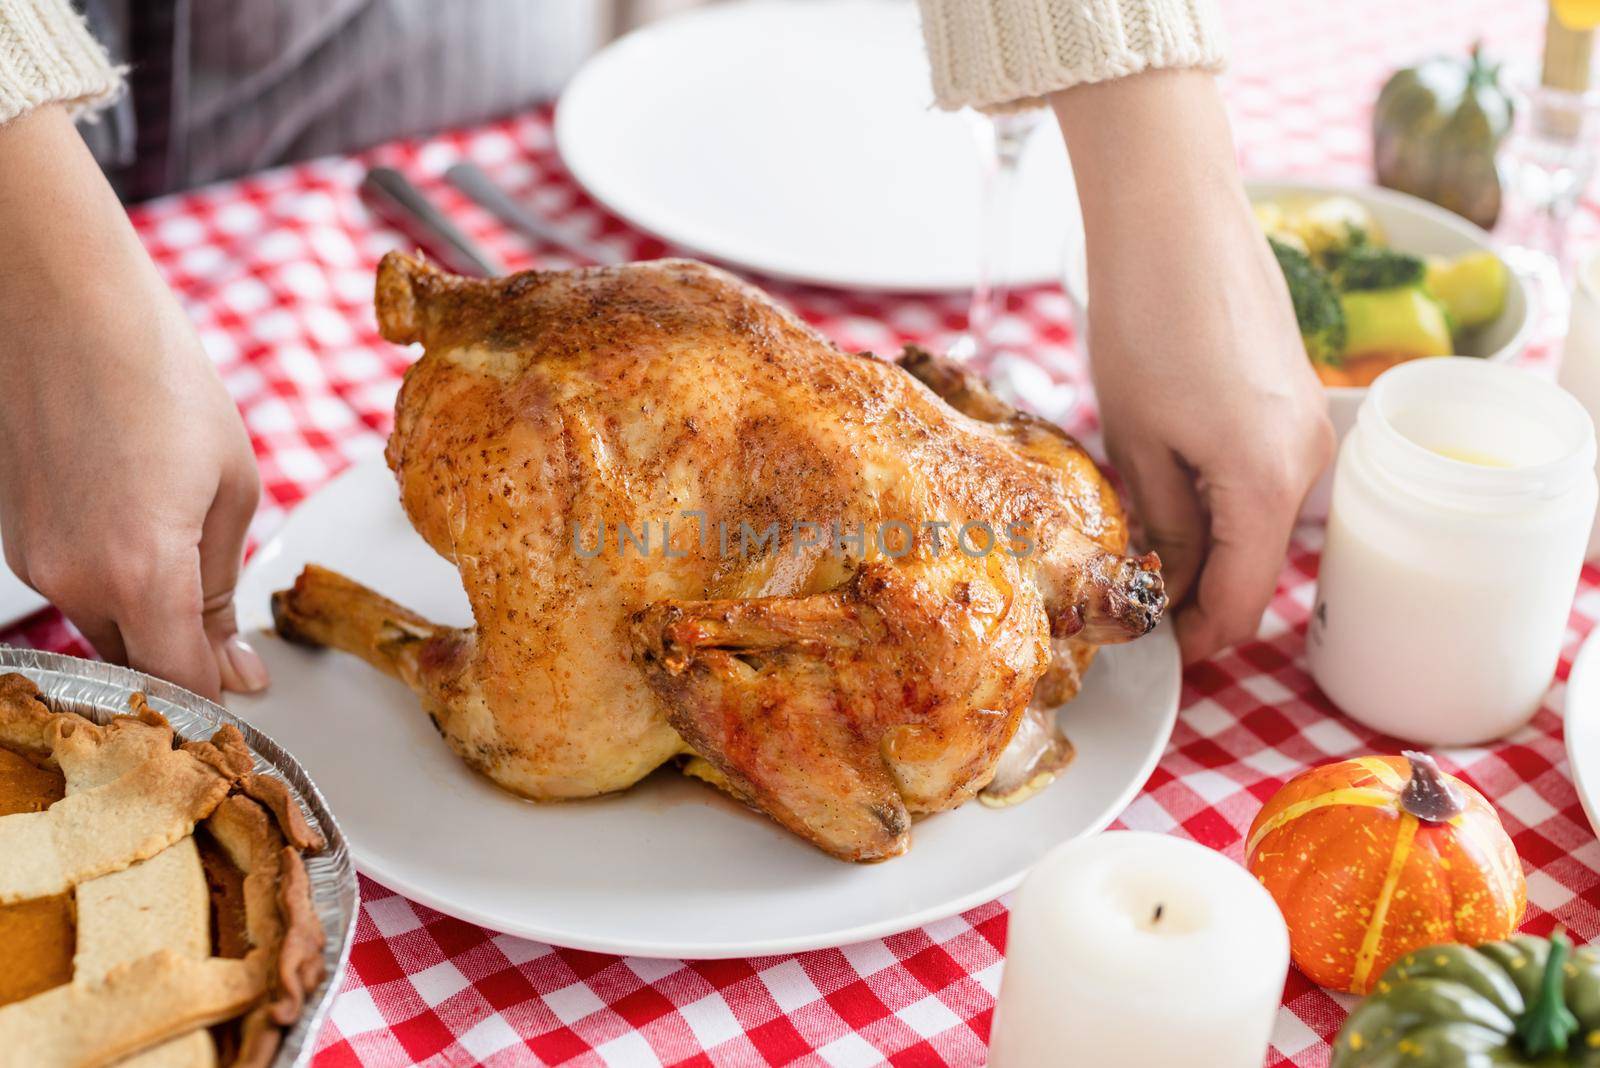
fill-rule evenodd
<path id="1" fill-rule="evenodd" d="M 234 584 L 259 494 L 238 412 L 58 107 L 0 126 L 0 540 L 107 660 L 267 683 Z"/>

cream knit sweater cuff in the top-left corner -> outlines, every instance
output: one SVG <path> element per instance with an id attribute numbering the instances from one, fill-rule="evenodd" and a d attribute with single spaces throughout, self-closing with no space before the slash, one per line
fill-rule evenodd
<path id="1" fill-rule="evenodd" d="M 88 110 L 118 90 L 122 74 L 67 0 L 0 0 L 0 123 L 43 104 Z"/>

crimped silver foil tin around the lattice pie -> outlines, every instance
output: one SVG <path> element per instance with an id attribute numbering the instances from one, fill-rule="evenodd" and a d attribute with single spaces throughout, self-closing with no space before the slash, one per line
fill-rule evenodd
<path id="1" fill-rule="evenodd" d="M 344 966 L 350 958 L 358 908 L 350 849 L 339 823 L 333 819 L 333 812 L 328 811 L 328 803 L 317 790 L 317 783 L 310 780 L 299 761 L 277 742 L 227 708 L 142 671 L 82 660 L 59 652 L 0 646 L 0 675 L 6 671 L 19 671 L 30 678 L 51 708 L 77 711 L 96 723 L 106 723 L 112 716 L 126 713 L 128 697 L 134 691 L 144 691 L 150 708 L 166 716 L 173 731 L 187 742 L 208 739 L 219 726 L 232 723 L 245 735 L 245 742 L 256 758 L 256 771 L 288 783 L 306 819 L 328 839 L 326 849 L 306 857 L 312 900 L 328 935 L 322 951 L 326 977 L 306 998 L 306 1010 L 299 1022 L 283 1033 L 283 1044 L 278 1047 L 274 1068 L 299 1068 L 310 1063 L 317 1031 L 322 1030 L 322 1022 L 333 1006 L 333 996 L 344 980 Z"/>

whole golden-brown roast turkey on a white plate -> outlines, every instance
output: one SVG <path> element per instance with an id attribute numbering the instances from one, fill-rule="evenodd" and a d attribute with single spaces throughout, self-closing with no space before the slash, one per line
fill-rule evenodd
<path id="1" fill-rule="evenodd" d="M 1075 441 L 928 353 L 843 353 L 722 270 L 485 281 L 390 253 L 378 321 L 424 349 L 387 459 L 475 625 L 307 568 L 278 630 L 398 675 L 515 793 L 683 758 L 837 857 L 893 857 L 1013 735 L 992 791 L 1059 769 L 1048 716 L 1018 732 L 1035 689 L 1070 697 L 1165 608 Z"/>

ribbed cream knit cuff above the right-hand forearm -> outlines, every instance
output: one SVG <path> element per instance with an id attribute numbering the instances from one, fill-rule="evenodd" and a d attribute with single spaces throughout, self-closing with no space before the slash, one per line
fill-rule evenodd
<path id="1" fill-rule="evenodd" d="M 920 0 L 939 107 L 1005 110 L 1160 67 L 1222 67 L 1214 0 Z"/>

